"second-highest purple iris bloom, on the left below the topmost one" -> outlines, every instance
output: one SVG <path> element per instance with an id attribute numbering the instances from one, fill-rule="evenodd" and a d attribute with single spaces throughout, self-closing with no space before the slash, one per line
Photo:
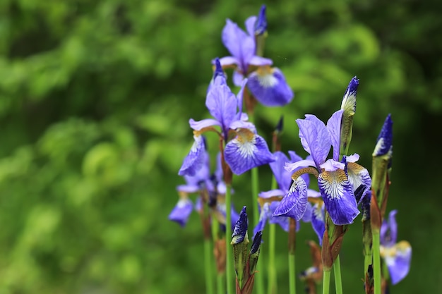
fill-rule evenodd
<path id="1" fill-rule="evenodd" d="M 220 68 L 219 61 L 216 63 L 217 68 Z M 217 71 L 219 70 L 216 69 L 215 72 Z M 255 125 L 247 121 L 247 115 L 242 113 L 242 96 L 246 80 L 242 82 L 241 90 L 235 96 L 222 75 L 217 77 L 214 78 L 215 82 L 210 86 L 205 100 L 205 106 L 213 118 L 202 121 L 194 121 L 192 118 L 189 120 L 194 130 L 195 142 L 184 159 L 180 175 L 192 174 L 201 168 L 203 142 L 200 137 L 206 130 L 216 131 L 215 126 L 220 128 L 220 134 L 226 142 L 224 157 L 233 173 L 239 175 L 274 160 L 267 143 L 256 133 Z"/>

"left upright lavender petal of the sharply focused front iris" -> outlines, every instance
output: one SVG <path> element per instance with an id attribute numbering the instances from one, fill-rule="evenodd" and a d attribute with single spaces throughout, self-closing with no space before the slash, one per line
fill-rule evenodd
<path id="1" fill-rule="evenodd" d="M 315 161 L 316 168 L 320 169 L 330 151 L 330 133 L 325 124 L 311 114 L 306 114 L 305 119 L 297 119 L 297 124 L 302 147 L 309 152 Z"/>

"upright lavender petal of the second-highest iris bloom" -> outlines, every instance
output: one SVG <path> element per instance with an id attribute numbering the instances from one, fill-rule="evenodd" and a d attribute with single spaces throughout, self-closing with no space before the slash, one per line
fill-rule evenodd
<path id="1" fill-rule="evenodd" d="M 205 99 L 210 114 L 220 122 L 222 131 L 227 137 L 230 123 L 236 120 L 238 99 L 227 85 L 214 85 Z"/>

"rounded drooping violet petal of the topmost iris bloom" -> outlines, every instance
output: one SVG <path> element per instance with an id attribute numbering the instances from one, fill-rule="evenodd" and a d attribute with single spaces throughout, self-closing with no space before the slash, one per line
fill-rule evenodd
<path id="1" fill-rule="evenodd" d="M 251 94 L 265 106 L 284 106 L 294 94 L 278 68 L 264 66 L 249 75 L 247 87 Z"/>

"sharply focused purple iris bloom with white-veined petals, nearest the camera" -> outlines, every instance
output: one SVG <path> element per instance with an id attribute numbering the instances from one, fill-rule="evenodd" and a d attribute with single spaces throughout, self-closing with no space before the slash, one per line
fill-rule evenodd
<path id="1" fill-rule="evenodd" d="M 287 171 L 296 171 L 300 167 L 313 166 L 318 172 L 318 188 L 323 197 L 325 209 L 333 223 L 350 224 L 359 214 L 354 191 L 364 185 L 364 192 L 371 186 L 369 172 L 354 161 L 359 155 L 354 154 L 339 160 L 340 125 L 342 110 L 336 111 L 327 122 L 327 126 L 316 116 L 307 114 L 305 119 L 297 119 L 301 145 L 311 156 L 286 164 Z M 333 159 L 327 159 L 333 146 Z M 303 178 L 294 180 L 289 192 L 281 201 L 274 215 L 291 213 L 295 219 L 301 219 L 306 211 L 307 189 Z"/>

